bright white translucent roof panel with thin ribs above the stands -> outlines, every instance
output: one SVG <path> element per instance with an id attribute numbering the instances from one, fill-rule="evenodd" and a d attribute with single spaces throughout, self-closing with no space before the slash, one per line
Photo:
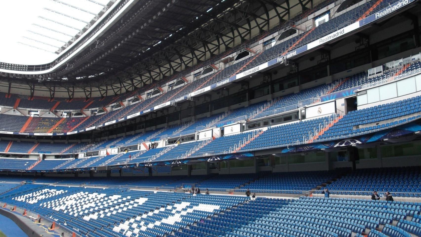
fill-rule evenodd
<path id="1" fill-rule="evenodd" d="M 116 1 L 119 2 L 119 1 Z M 0 1 L 0 61 L 45 64 L 87 27 L 110 0 Z M 86 29 L 85 29 L 86 30 Z"/>

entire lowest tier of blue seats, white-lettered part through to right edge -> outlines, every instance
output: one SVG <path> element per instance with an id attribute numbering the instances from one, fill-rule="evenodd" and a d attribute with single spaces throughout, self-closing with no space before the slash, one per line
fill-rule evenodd
<path id="1" fill-rule="evenodd" d="M 409 237 L 410 233 L 419 234 L 421 208 L 419 203 L 373 200 L 250 200 L 240 196 L 36 184 L 18 186 L 0 194 L 0 200 L 40 213 L 81 236 L 93 237 L 351 237 L 367 232 L 368 236 Z"/>

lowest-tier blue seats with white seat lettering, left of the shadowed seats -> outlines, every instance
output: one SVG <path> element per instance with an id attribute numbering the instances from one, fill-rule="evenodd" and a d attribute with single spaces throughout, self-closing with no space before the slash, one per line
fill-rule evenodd
<path id="1" fill-rule="evenodd" d="M 15 189 L 11 195 L 0 195 L 0 199 L 55 219 L 84 236 L 170 234 L 247 200 L 122 188 L 24 186 L 26 189 Z"/>

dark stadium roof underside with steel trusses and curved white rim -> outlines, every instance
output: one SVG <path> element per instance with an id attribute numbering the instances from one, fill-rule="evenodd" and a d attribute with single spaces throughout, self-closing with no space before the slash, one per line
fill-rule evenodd
<path id="1" fill-rule="evenodd" d="M 60 4 L 56 1 L 52 3 Z M 102 28 L 84 41 L 88 43 L 70 45 L 61 53 L 66 56 L 50 64 L 24 66 L 26 71 L 21 73 L 4 72 L 0 67 L 0 80 L 77 88 L 108 86 L 106 90 L 112 88 L 115 93 L 119 93 L 117 87 L 133 90 L 206 64 L 213 56 L 276 30 L 320 2 L 323 0 L 121 0 L 99 19 Z M 79 48 L 72 51 L 72 47 Z"/>

